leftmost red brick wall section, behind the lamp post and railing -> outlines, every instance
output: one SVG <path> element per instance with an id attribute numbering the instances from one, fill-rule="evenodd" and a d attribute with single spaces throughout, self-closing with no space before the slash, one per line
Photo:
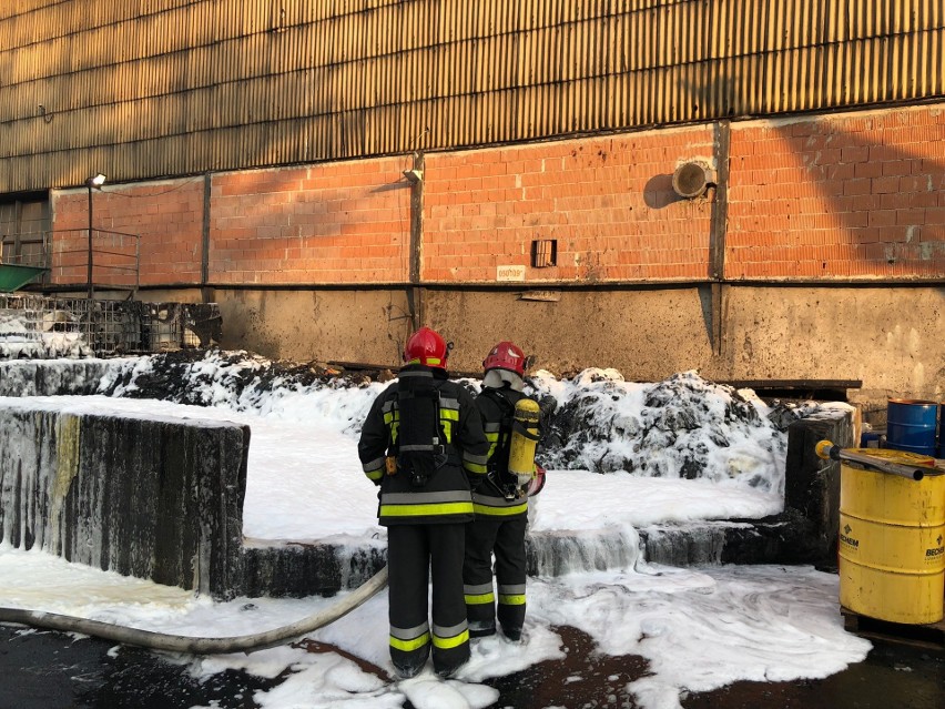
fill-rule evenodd
<path id="1" fill-rule="evenodd" d="M 142 285 L 197 284 L 201 274 L 203 178 L 136 185 L 110 185 L 92 192 L 94 281 L 133 284 L 124 269 L 133 264 L 140 239 Z M 89 194 L 87 190 L 53 195 L 55 232 L 53 282 L 87 282 Z M 101 230 L 101 231 L 100 231 Z M 125 254 L 119 256 L 116 254 Z M 115 267 L 110 267 L 115 266 Z"/>

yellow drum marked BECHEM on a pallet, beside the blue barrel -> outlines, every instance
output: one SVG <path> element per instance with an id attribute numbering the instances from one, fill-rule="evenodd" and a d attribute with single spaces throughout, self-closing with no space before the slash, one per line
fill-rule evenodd
<path id="1" fill-rule="evenodd" d="M 903 450 L 855 448 L 892 463 L 929 466 Z M 844 460 L 840 475 L 840 602 L 903 624 L 938 622 L 945 595 L 945 476 L 911 480 Z"/>

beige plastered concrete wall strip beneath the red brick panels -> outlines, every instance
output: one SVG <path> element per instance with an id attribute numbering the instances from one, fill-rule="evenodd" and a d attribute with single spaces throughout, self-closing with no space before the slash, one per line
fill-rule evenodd
<path id="1" fill-rule="evenodd" d="M 421 322 L 456 345 L 450 367 L 479 372 L 500 340 L 556 374 L 613 367 L 659 382 L 698 369 L 714 382 L 858 381 L 847 401 L 885 422 L 887 397 L 945 399 L 945 288 L 740 284 L 559 290 L 437 290 Z M 397 367 L 410 333 L 404 290 L 226 291 L 217 288 L 222 344 L 266 356 Z M 872 414 L 881 415 L 876 418 Z"/>

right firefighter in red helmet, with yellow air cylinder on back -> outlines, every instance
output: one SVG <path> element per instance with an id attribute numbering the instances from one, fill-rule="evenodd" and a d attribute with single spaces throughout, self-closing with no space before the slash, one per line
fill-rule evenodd
<path id="1" fill-rule="evenodd" d="M 540 492 L 545 469 L 528 462 L 529 482 L 509 472 L 509 452 L 516 404 L 527 398 L 525 355 L 510 342 L 492 347 L 482 362 L 485 375 L 476 405 L 489 440 L 488 476 L 472 494 L 476 519 L 466 530 L 466 559 L 463 583 L 470 637 L 496 632 L 498 616 L 502 634 L 521 638 L 525 621 L 525 533 L 528 525 L 528 496 Z M 535 432 L 537 437 L 537 405 Z M 532 447 L 534 455 L 534 447 Z M 536 477 L 531 478 L 535 470 Z M 496 584 L 492 586 L 492 555 Z M 498 598 L 495 590 L 498 590 Z M 498 600 L 498 611 L 496 601 Z"/>

